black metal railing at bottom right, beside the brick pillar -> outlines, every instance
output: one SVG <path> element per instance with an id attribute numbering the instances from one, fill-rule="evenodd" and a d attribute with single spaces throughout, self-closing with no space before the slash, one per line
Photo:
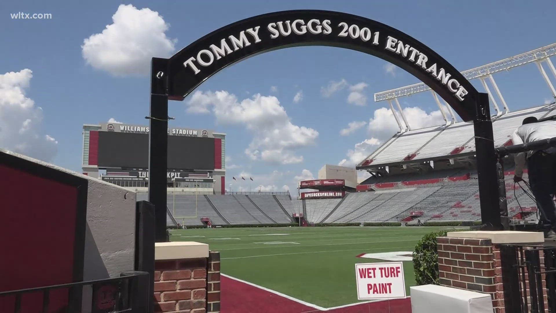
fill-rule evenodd
<path id="1" fill-rule="evenodd" d="M 556 313 L 556 247 L 503 244 L 500 253 L 505 311 Z"/>

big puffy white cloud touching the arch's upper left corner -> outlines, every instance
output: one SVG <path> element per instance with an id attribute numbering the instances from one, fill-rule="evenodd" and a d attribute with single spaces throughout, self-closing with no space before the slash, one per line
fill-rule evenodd
<path id="1" fill-rule="evenodd" d="M 152 57 L 169 57 L 175 50 L 176 40 L 166 37 L 167 30 L 158 12 L 120 4 L 111 25 L 83 40 L 83 58 L 115 76 L 146 75 Z"/>

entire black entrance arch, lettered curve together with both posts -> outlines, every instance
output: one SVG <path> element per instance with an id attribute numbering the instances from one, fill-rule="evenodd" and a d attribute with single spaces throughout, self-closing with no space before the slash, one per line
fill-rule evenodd
<path id="1" fill-rule="evenodd" d="M 488 163 L 488 166 L 493 167 L 492 173 L 489 173 L 491 183 L 496 184 L 494 144 L 492 140 L 489 141 L 489 138 L 492 139 L 492 123 L 487 94 L 479 93 L 458 70 L 431 48 L 393 27 L 353 14 L 295 10 L 242 19 L 198 39 L 169 59 L 153 58 L 151 116 L 148 117 L 151 119 L 150 170 L 160 166 L 156 171 L 161 172 L 161 181 L 157 182 L 151 173 L 149 189 L 155 183 L 166 183 L 166 176 L 163 176 L 166 173 L 166 154 L 160 154 L 166 151 L 167 145 L 166 139 L 162 137 L 166 136 L 168 99 L 183 100 L 212 75 L 248 57 L 298 46 L 331 46 L 360 51 L 382 58 L 413 74 L 446 100 L 461 119 L 474 121 L 476 136 L 486 140 L 484 143 L 480 141 L 482 139 L 476 140 L 477 154 L 492 155 L 488 162 L 478 160 L 479 178 L 485 177 L 484 170 L 481 172 L 481 164 Z M 160 135 L 157 135 L 157 126 L 163 130 Z M 495 194 L 496 190 L 490 190 L 490 193 Z M 160 194 L 155 196 L 156 199 L 151 199 L 149 192 L 149 200 L 155 207 L 162 203 L 165 205 L 166 195 L 162 192 L 165 190 L 158 189 Z M 481 207 L 485 193 L 481 190 Z M 486 207 L 487 203 L 484 204 Z M 493 208 L 497 204 L 495 197 L 488 206 Z M 160 213 L 162 218 L 166 221 L 166 216 Z"/>

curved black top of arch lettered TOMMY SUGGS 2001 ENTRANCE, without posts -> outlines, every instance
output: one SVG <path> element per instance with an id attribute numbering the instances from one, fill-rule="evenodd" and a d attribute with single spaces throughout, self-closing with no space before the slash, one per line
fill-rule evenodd
<path id="1" fill-rule="evenodd" d="M 383 23 L 320 10 L 262 14 L 191 43 L 168 62 L 168 95 L 183 99 L 226 66 L 259 53 L 296 46 L 334 46 L 380 57 L 430 86 L 464 121 L 475 117 L 478 92 L 438 53 Z"/>

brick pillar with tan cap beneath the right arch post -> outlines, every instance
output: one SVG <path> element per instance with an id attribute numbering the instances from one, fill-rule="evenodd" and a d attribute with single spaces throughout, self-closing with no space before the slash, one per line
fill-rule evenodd
<path id="1" fill-rule="evenodd" d="M 440 285 L 490 294 L 494 312 L 505 313 L 500 244 L 538 243 L 544 238 L 534 232 L 471 231 L 449 232 L 437 240 Z M 544 297 L 547 302 L 546 288 Z"/>

